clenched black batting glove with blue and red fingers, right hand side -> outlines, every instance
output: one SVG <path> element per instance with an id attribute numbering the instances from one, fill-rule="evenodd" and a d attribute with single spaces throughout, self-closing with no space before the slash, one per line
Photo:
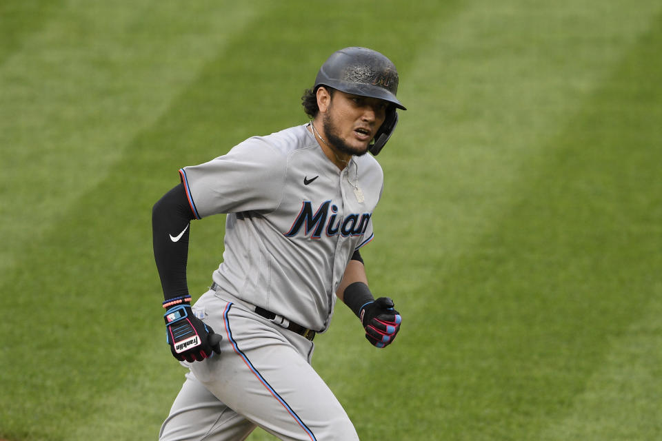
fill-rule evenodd
<path id="1" fill-rule="evenodd" d="M 400 330 L 402 317 L 393 306 L 393 300 L 380 297 L 361 307 L 359 318 L 365 329 L 365 338 L 376 347 L 390 345 Z"/>

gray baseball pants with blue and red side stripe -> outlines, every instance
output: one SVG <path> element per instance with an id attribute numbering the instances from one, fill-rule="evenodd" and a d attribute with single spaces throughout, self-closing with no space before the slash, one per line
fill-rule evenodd
<path id="1" fill-rule="evenodd" d="M 194 305 L 221 353 L 189 367 L 159 440 L 239 441 L 261 427 L 281 440 L 359 440 L 312 366 L 314 345 L 255 314 L 237 298 L 207 291 Z"/>

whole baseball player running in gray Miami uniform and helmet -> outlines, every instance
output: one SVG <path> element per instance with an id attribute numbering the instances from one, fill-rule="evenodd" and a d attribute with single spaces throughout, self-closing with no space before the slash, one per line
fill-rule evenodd
<path id="1" fill-rule="evenodd" d="M 336 299 L 383 348 L 401 316 L 374 299 L 359 249 L 373 238 L 379 154 L 397 125 L 398 74 L 383 54 L 345 48 L 323 63 L 303 107 L 310 123 L 254 136 L 179 170 L 152 212 L 154 258 L 172 355 L 189 368 L 161 440 L 358 440 L 311 367 Z M 190 221 L 227 214 L 223 262 L 193 305 Z"/>

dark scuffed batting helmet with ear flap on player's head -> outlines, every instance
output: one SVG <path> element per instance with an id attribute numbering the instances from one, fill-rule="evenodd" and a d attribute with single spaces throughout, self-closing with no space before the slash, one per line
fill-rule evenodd
<path id="1" fill-rule="evenodd" d="M 398 123 L 396 107 L 407 110 L 396 98 L 398 71 L 390 59 L 368 48 L 344 48 L 331 54 L 317 72 L 314 90 L 324 85 L 348 94 L 383 99 L 393 105 L 370 145 L 377 156 Z"/>

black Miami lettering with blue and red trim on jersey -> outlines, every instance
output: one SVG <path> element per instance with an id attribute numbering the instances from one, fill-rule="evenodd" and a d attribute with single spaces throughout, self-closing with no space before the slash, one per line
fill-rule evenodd
<path id="1" fill-rule="evenodd" d="M 331 210 L 330 215 L 329 209 Z M 372 216 L 372 213 L 352 213 L 345 216 L 344 220 L 336 220 L 338 217 L 337 213 L 338 207 L 332 204 L 331 201 L 322 203 L 314 214 L 312 212 L 312 203 L 310 201 L 303 201 L 301 212 L 294 219 L 290 231 L 285 233 L 285 236 L 297 236 L 301 231 L 301 227 L 304 227 L 304 225 L 305 232 L 303 234 L 308 236 L 312 232 L 312 236 L 310 237 L 314 239 L 319 239 L 324 229 L 326 229 L 327 236 L 335 236 L 336 234 L 360 236 L 365 233 L 365 229 L 368 228 L 370 216 Z"/>

